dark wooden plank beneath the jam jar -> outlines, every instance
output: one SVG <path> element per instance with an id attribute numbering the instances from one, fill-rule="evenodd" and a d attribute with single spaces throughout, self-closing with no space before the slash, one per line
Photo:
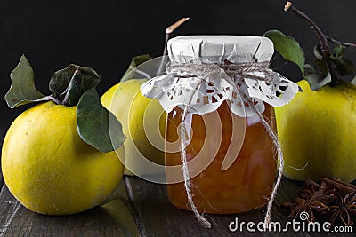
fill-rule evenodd
<path id="1" fill-rule="evenodd" d="M 143 235 L 146 236 L 255 236 L 256 233 L 248 233 L 246 227 L 244 232 L 232 233 L 229 230 L 231 222 L 238 218 L 238 222 L 263 221 L 263 210 L 255 210 L 236 215 L 210 215 L 209 221 L 213 224 L 212 229 L 205 229 L 198 224 L 198 220 L 189 211 L 175 209 L 166 195 L 166 186 L 152 184 L 140 178 L 125 179 L 126 189 L 130 199 L 137 210 L 142 221 Z M 283 226 L 287 218 L 279 213 L 279 205 L 286 200 L 291 200 L 295 191 L 302 186 L 290 180 L 284 180 L 279 189 L 276 207 L 273 210 L 272 221 L 279 221 Z M 320 233 L 294 232 L 288 228 L 285 233 L 275 233 L 279 236 L 320 236 Z M 258 233 L 258 235 L 271 236 L 271 233 Z M 333 233 L 322 233 L 323 236 L 336 236 Z M 346 233 L 343 236 L 347 235 Z"/>

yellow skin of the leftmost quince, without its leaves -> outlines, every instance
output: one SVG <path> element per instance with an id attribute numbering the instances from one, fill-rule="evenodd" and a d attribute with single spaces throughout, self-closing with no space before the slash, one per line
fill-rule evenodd
<path id="1" fill-rule="evenodd" d="M 6 133 L 4 181 L 30 210 L 64 215 L 91 209 L 123 176 L 124 146 L 101 153 L 87 145 L 77 134 L 76 110 L 45 102 L 22 113 Z"/>

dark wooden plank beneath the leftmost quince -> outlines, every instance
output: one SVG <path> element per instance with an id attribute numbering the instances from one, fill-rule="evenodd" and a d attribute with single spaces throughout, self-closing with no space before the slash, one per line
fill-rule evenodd
<path id="1" fill-rule="evenodd" d="M 118 195 L 119 194 L 119 195 Z M 139 236 L 125 194 L 101 207 L 70 216 L 45 216 L 24 208 L 6 186 L 0 193 L 0 236 Z"/>

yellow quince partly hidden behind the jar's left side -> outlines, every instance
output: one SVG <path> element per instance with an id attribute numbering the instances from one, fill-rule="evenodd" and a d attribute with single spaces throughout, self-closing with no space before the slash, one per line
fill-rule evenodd
<path id="1" fill-rule="evenodd" d="M 141 159 L 164 164 L 166 112 L 158 99 L 142 96 L 140 86 L 147 79 L 117 83 L 101 97 L 101 103 L 123 124 L 125 134 L 125 174 L 154 174 Z"/>

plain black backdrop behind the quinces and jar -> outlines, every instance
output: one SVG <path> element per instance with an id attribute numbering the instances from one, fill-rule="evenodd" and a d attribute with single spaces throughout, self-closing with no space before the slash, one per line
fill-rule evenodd
<path id="1" fill-rule="evenodd" d="M 175 35 L 261 36 L 277 28 L 294 36 L 312 61 L 317 38 L 294 15 L 283 12 L 285 0 L 117 0 L 117 1 L 0 1 L 0 138 L 12 120 L 27 107 L 9 109 L 4 101 L 10 73 L 25 53 L 36 76 L 36 87 L 49 94 L 54 71 L 76 63 L 101 75 L 102 94 L 118 82 L 135 55 L 161 54 L 164 30 L 183 16 L 190 20 Z M 340 41 L 356 43 L 356 2 L 352 0 L 295 0 L 320 28 Z M 356 59 L 356 50 L 347 55 Z M 302 75 L 291 63 L 273 59 L 272 67 L 294 81 Z"/>

